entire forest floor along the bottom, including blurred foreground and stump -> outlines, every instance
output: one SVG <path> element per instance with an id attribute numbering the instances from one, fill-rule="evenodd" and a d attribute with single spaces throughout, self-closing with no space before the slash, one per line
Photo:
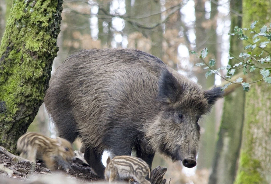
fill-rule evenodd
<path id="1" fill-rule="evenodd" d="M 83 159 L 81 152 L 77 151 L 75 156 L 76 159 L 71 161 L 72 169 L 63 170 L 62 168 L 58 168 L 57 171 L 51 171 L 47 169 L 41 161 L 33 163 L 11 154 L 0 146 L 0 184 L 91 184 L 93 181 L 102 181 Z M 165 173 L 166 168 L 164 167 L 158 166 L 153 169 L 152 183 L 164 184 L 166 182 L 166 180 L 163 179 Z M 53 177 L 53 175 L 58 176 Z M 33 182 L 33 180 L 37 180 L 37 178 L 39 181 Z M 97 184 L 99 182 L 97 182 Z M 138 184 L 136 181 L 132 181 L 131 183 Z"/>

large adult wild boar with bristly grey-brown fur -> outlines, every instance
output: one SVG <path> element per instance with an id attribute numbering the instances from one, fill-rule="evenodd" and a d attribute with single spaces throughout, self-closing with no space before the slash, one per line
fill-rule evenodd
<path id="1" fill-rule="evenodd" d="M 100 177 L 103 150 L 131 155 L 151 168 L 156 151 L 196 165 L 198 119 L 222 96 L 202 88 L 159 58 L 133 49 L 82 50 L 52 75 L 44 102 L 59 136 L 80 137 Z"/>

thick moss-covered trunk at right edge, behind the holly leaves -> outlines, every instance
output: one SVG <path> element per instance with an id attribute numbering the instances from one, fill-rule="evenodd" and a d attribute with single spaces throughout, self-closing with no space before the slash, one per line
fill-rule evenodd
<path id="1" fill-rule="evenodd" d="M 271 0 L 243 0 L 243 27 L 250 27 L 256 20 L 259 21 L 256 24 L 258 29 L 263 24 L 269 26 L 270 11 Z M 270 45 L 265 49 L 270 50 Z M 260 72 L 255 72 L 248 75 L 248 81 L 261 77 Z M 242 146 L 235 184 L 271 183 L 270 91 L 271 85 L 261 81 L 251 85 L 246 93 Z"/>

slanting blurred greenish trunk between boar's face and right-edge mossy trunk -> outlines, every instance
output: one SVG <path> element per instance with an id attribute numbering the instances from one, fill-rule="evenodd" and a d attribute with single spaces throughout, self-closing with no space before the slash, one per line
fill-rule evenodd
<path id="1" fill-rule="evenodd" d="M 230 8 L 242 14 L 242 1 L 230 1 Z M 242 26 L 242 17 L 231 13 L 231 29 L 234 32 L 235 26 Z M 237 36 L 230 38 L 230 52 L 239 56 L 242 52 L 242 41 Z M 230 64 L 239 63 L 237 60 L 230 60 Z M 238 160 L 242 138 L 242 125 L 244 119 L 245 92 L 239 87 L 234 92 L 225 96 L 223 115 L 216 143 L 216 152 L 209 178 L 209 184 L 223 183 L 232 184 L 236 175 L 236 161 Z"/>

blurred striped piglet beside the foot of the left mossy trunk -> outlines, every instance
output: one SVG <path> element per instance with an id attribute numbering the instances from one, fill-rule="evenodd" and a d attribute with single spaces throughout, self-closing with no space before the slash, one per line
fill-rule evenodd
<path id="1" fill-rule="evenodd" d="M 74 159 L 73 148 L 69 141 L 57 137 L 55 139 L 39 133 L 28 132 L 17 142 L 20 157 L 36 163 L 36 159 L 45 162 L 46 167 L 56 170 L 59 165 L 71 169 L 69 161 Z"/>

